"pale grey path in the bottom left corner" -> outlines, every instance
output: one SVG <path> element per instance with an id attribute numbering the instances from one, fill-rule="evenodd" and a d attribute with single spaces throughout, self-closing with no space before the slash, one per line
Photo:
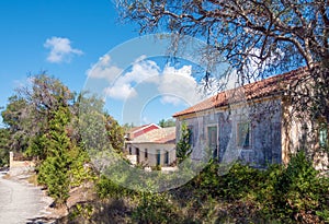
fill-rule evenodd
<path id="1" fill-rule="evenodd" d="M 45 215 L 48 203 L 39 188 L 0 175 L 1 224 L 47 223 L 38 217 Z"/>

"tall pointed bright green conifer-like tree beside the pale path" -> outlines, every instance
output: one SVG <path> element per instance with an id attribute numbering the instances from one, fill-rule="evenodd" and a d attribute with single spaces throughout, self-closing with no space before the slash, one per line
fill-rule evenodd
<path id="1" fill-rule="evenodd" d="M 65 203 L 69 189 L 78 187 L 84 181 L 94 179 L 91 167 L 86 166 L 89 156 L 86 151 L 70 141 L 67 125 L 71 114 L 68 107 L 59 107 L 54 111 L 54 119 L 49 121 L 49 135 L 41 138 L 46 152 L 46 158 L 38 170 L 38 181 L 47 186 L 48 193 L 57 203 Z"/>

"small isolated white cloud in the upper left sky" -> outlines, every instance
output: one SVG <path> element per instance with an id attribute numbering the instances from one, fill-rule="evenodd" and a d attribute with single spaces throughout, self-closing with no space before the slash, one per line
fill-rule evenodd
<path id="1" fill-rule="evenodd" d="M 44 47 L 50 49 L 47 61 L 52 63 L 69 62 L 70 59 L 83 52 L 71 47 L 71 42 L 68 38 L 53 36 L 44 44 Z"/>

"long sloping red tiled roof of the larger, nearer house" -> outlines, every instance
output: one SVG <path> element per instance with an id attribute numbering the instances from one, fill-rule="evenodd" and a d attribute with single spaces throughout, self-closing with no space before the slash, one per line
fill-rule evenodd
<path id="1" fill-rule="evenodd" d="M 175 113 L 173 117 L 180 117 L 183 115 L 227 106 L 229 103 L 231 104 L 241 101 L 250 101 L 282 93 L 287 85 L 293 84 L 294 81 L 303 76 L 306 76 L 306 70 L 307 69 L 305 67 L 298 68 L 296 70 L 283 74 L 274 75 L 261 81 L 246 84 L 240 89 L 232 89 L 220 92 L 215 96 L 212 96 L 192 107 Z"/>

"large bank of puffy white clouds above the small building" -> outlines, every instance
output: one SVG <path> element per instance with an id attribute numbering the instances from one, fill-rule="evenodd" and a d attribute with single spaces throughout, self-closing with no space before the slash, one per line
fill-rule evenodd
<path id="1" fill-rule="evenodd" d="M 109 85 L 103 93 L 113 99 L 125 101 L 148 92 L 160 95 L 162 104 L 174 106 L 193 105 L 202 99 L 200 85 L 192 75 L 192 66 L 175 68 L 167 64 L 161 69 L 156 61 L 140 56 L 124 72 L 105 55 L 87 74 L 92 79 L 105 79 Z M 140 91 L 145 91 L 144 94 Z"/>

